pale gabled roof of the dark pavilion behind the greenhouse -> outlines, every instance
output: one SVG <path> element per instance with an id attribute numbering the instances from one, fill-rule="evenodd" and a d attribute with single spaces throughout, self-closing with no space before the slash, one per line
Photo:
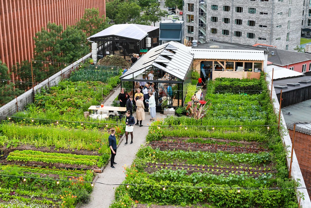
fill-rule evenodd
<path id="1" fill-rule="evenodd" d="M 118 24 L 112 25 L 96 33 L 95 35 L 92 35 L 91 37 L 89 37 L 89 39 L 118 36 L 140 41 L 147 36 L 147 32 L 153 31 L 157 28 L 159 27 L 139 24 Z"/>

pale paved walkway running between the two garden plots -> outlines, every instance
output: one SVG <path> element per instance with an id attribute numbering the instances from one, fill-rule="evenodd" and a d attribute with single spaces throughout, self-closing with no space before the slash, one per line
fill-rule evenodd
<path id="1" fill-rule="evenodd" d="M 118 96 L 120 90 L 116 90 L 114 94 L 111 95 L 110 99 L 104 103 L 104 105 L 110 105 L 114 98 Z M 136 114 L 134 113 L 133 116 L 135 117 L 136 121 Z M 150 114 L 145 113 L 146 120 L 142 122 L 143 125 L 147 125 L 149 122 Z M 165 115 L 157 113 L 156 118 L 165 118 Z M 137 150 L 140 148 L 141 144 L 146 143 L 146 135 L 148 133 L 148 126 L 134 126 L 133 131 L 133 144 L 130 144 L 130 135 L 128 138 L 128 145 L 124 145 L 125 138 L 123 137 L 117 149 L 117 154 L 115 156 L 115 162 L 118 165 L 115 165 L 116 169 L 110 168 L 110 161 L 107 166 L 104 168 L 104 171 L 99 174 L 99 178 L 97 179 L 92 194 L 91 194 L 91 201 L 87 204 L 83 204 L 80 207 L 82 208 L 94 208 L 94 207 L 101 207 L 101 208 L 108 208 L 109 205 L 114 201 L 114 190 L 117 185 L 107 185 L 107 184 L 120 184 L 123 180 L 125 180 L 124 168 L 125 166 L 130 166 L 133 162 L 135 154 Z M 107 138 L 108 140 L 108 138 Z M 103 184 L 102 184 L 103 183 Z"/>

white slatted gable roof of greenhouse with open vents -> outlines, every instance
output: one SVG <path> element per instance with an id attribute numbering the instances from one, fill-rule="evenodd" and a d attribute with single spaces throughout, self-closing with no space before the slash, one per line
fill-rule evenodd
<path id="1" fill-rule="evenodd" d="M 188 47 L 175 41 L 170 41 L 163 45 L 152 48 L 135 64 L 129 68 L 122 76 L 123 79 L 132 79 L 149 68 L 159 68 L 181 80 L 184 80 L 188 69 L 193 61 L 193 55 L 188 51 Z"/>

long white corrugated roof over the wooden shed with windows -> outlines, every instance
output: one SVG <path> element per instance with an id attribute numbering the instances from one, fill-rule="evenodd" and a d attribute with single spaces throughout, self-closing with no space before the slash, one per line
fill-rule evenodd
<path id="1" fill-rule="evenodd" d="M 258 50 L 225 50 L 225 49 L 196 49 L 190 53 L 194 59 L 223 59 L 223 60 L 265 60 L 264 51 Z"/>

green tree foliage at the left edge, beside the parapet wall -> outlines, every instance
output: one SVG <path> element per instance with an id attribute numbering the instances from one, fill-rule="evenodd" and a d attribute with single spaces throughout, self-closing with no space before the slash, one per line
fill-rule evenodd
<path id="1" fill-rule="evenodd" d="M 0 60 L 0 105 L 8 103 L 23 92 L 8 81 L 11 80 L 8 70 L 7 65 Z"/>

